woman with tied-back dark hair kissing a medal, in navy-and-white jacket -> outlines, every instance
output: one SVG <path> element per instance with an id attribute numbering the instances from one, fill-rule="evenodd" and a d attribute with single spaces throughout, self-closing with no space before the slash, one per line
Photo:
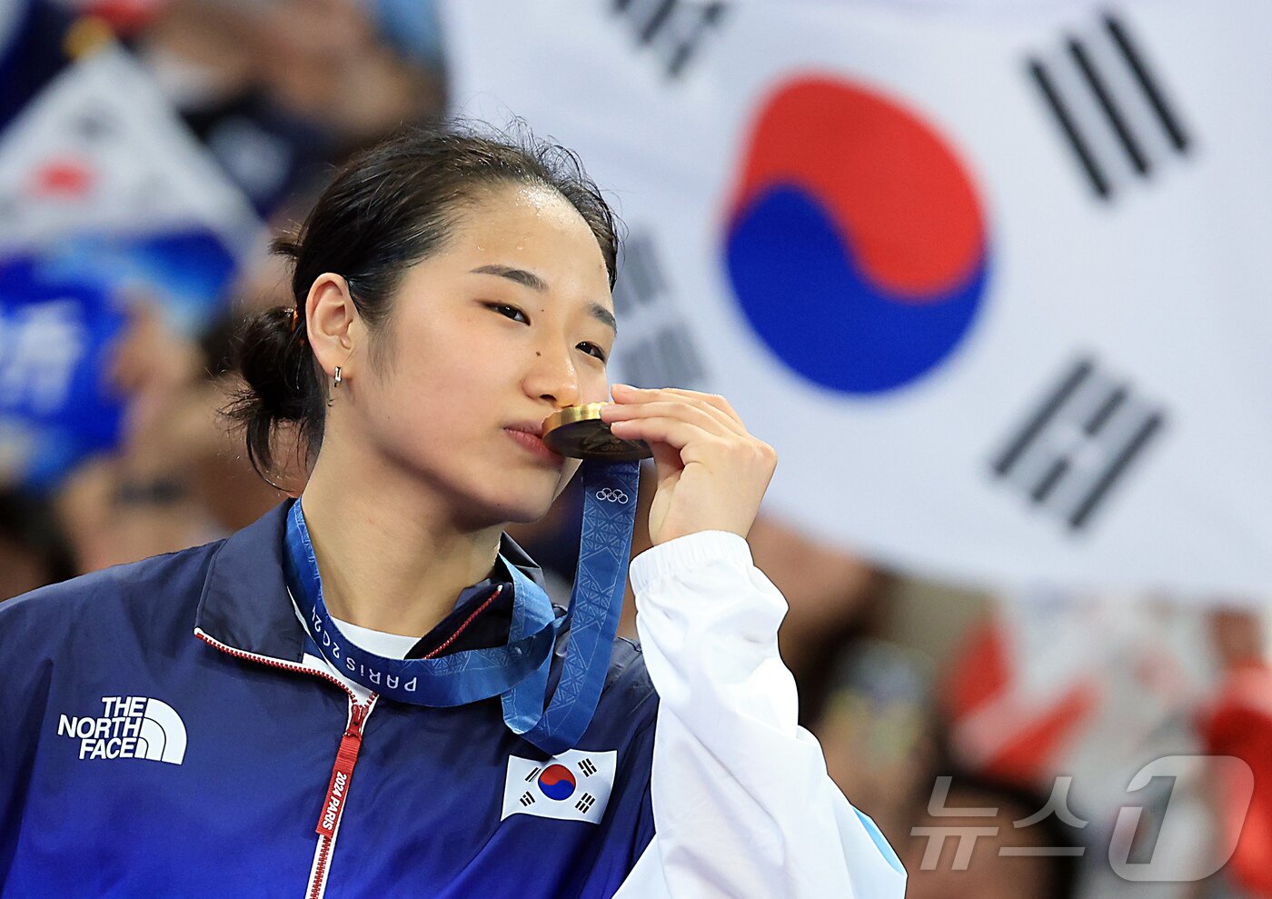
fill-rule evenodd
<path id="1" fill-rule="evenodd" d="M 303 495 L 0 607 L 0 895 L 901 896 L 796 726 L 745 542 L 776 456 L 719 396 L 613 386 L 656 469 L 642 647 L 602 641 L 571 711 L 603 629 L 536 605 L 504 526 L 579 469 L 543 420 L 611 393 L 617 238 L 574 157 L 406 132 L 277 247 L 294 304 L 234 414 L 262 471 L 299 438 Z"/>

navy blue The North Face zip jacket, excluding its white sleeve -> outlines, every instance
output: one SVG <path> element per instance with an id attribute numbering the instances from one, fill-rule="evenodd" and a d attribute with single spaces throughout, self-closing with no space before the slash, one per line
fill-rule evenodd
<path id="1" fill-rule="evenodd" d="M 359 712 L 304 663 L 287 508 L 0 605 L 0 896 L 612 895 L 654 835 L 658 698 L 640 649 L 616 642 L 577 746 L 584 773 L 586 753 L 617 753 L 599 823 L 501 820 L 513 760 L 548 760 L 497 699 Z M 501 551 L 542 583 L 506 535 Z M 506 641 L 509 602 L 473 618 L 486 587 L 412 655 Z M 350 751 L 336 837 L 321 837 Z"/>

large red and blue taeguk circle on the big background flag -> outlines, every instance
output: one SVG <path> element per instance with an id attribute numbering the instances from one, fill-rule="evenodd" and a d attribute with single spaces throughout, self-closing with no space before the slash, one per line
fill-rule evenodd
<path id="1" fill-rule="evenodd" d="M 963 164 L 913 112 L 842 79 L 770 94 L 728 220 L 729 278 L 752 327 L 832 390 L 915 381 L 981 304 L 985 216 Z"/>

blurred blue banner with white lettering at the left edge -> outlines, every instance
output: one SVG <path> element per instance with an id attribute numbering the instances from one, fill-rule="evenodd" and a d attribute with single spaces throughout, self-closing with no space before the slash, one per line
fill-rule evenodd
<path id="1" fill-rule="evenodd" d="M 109 381 L 130 302 L 154 303 L 174 332 L 216 313 L 234 258 L 211 234 L 85 236 L 0 257 L 0 479 L 43 492 L 121 439 Z"/>

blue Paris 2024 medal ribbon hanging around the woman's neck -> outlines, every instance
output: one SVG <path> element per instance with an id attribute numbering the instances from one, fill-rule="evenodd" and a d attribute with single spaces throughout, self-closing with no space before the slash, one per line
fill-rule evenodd
<path id="1" fill-rule="evenodd" d="M 504 721 L 514 733 L 552 755 L 574 746 L 591 721 L 609 669 L 636 523 L 640 462 L 586 460 L 579 476 L 583 537 L 566 616 L 558 619 L 543 588 L 500 556 L 513 578 L 508 643 L 438 658 L 385 658 L 340 632 L 323 601 L 318 560 L 298 499 L 287 516 L 286 549 L 300 586 L 296 604 L 318 651 L 350 680 L 397 702 L 450 707 L 501 697 Z M 547 703 L 552 651 L 566 623 L 569 646 Z"/>

